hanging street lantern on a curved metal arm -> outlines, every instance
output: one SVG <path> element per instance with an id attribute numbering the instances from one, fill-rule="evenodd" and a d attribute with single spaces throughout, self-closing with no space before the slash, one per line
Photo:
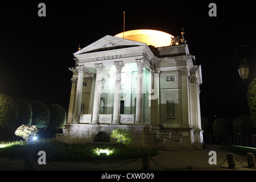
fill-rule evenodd
<path id="1" fill-rule="evenodd" d="M 245 46 L 245 45 L 240 45 L 240 46 L 237 46 L 237 48 L 236 48 L 236 56 L 237 56 L 237 49 L 239 47 L 249 48 L 254 53 L 254 51 L 250 47 Z M 255 53 L 254 53 L 254 56 L 256 57 Z M 246 60 L 245 59 L 241 59 L 238 56 L 237 56 L 237 58 L 240 59 L 240 61 L 241 61 L 240 67 L 238 68 L 238 73 L 239 73 L 240 77 L 242 78 L 242 81 L 245 81 L 249 77 L 250 67 L 246 64 Z"/>

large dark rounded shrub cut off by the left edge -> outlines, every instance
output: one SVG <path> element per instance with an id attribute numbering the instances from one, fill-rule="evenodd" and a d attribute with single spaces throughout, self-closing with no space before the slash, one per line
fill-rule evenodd
<path id="1" fill-rule="evenodd" d="M 10 96 L 0 94 L 0 127 L 13 128 L 18 117 L 19 109 Z"/>

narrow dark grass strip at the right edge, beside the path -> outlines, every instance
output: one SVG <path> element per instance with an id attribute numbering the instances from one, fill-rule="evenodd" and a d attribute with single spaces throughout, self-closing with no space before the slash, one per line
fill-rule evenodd
<path id="1" fill-rule="evenodd" d="M 256 155 L 256 148 L 244 147 L 244 146 L 233 146 L 233 145 L 218 145 L 220 150 L 225 150 L 234 153 L 247 154 L 247 152 L 254 153 Z"/>

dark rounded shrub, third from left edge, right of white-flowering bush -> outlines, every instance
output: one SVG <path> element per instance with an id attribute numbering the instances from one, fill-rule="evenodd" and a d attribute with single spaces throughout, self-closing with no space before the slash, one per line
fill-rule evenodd
<path id="1" fill-rule="evenodd" d="M 47 128 L 49 125 L 49 109 L 40 101 L 29 101 L 32 106 L 32 123 L 39 129 Z"/>

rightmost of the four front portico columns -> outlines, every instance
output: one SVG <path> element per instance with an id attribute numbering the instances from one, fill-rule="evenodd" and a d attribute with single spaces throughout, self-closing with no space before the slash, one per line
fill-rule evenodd
<path id="1" fill-rule="evenodd" d="M 136 100 L 136 119 L 135 124 L 142 125 L 143 123 L 143 67 L 145 65 L 145 61 L 143 59 L 136 60 L 138 67 L 138 75 L 137 75 L 137 100 Z"/>

